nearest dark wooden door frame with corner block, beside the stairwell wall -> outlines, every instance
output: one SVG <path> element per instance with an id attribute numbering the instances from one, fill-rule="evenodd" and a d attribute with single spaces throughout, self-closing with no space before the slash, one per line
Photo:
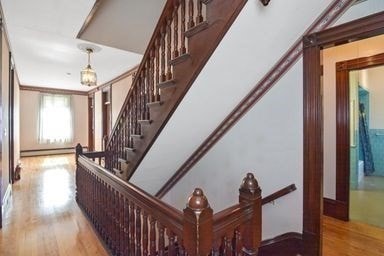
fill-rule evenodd
<path id="1" fill-rule="evenodd" d="M 303 38 L 303 251 L 322 255 L 323 108 L 320 51 L 384 34 L 384 12 Z M 349 108 L 349 104 L 347 106 Z M 349 120 L 344 116 L 343 121 Z M 341 120 L 337 120 L 339 122 Z M 349 124 L 349 122 L 347 122 Z M 348 141 L 349 141 L 349 136 Z"/>

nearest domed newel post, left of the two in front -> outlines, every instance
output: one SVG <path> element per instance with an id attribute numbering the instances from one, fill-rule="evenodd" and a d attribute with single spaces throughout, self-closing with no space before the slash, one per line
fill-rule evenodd
<path id="1" fill-rule="evenodd" d="M 188 255 L 207 255 L 213 241 L 213 211 L 200 188 L 196 188 L 184 209 L 183 241 Z"/>

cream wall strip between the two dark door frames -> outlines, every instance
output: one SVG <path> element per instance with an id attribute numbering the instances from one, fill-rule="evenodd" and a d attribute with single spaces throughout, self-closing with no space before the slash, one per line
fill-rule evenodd
<path id="1" fill-rule="evenodd" d="M 383 35 L 323 51 L 324 197 L 336 199 L 336 62 L 383 52 Z"/>

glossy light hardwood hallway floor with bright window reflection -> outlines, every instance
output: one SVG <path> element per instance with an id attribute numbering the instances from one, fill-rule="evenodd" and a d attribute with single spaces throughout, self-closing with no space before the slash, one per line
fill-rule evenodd
<path id="1" fill-rule="evenodd" d="M 22 159 L 0 255 L 108 255 L 75 201 L 74 155 Z"/>

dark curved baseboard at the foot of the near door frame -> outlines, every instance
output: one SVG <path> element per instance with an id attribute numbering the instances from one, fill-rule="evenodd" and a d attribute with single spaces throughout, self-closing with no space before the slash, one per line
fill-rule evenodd
<path id="1" fill-rule="evenodd" d="M 284 233 L 261 242 L 258 256 L 297 256 L 303 253 L 303 235 Z"/>

